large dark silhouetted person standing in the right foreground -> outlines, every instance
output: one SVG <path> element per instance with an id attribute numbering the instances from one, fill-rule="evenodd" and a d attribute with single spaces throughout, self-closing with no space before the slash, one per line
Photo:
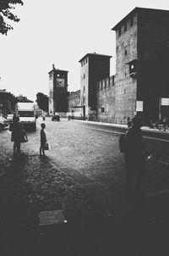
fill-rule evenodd
<path id="1" fill-rule="evenodd" d="M 132 126 L 126 132 L 125 160 L 128 192 L 140 192 L 144 178 L 145 152 L 142 138 L 141 120 L 134 117 Z M 135 186 L 134 186 L 135 183 Z"/>

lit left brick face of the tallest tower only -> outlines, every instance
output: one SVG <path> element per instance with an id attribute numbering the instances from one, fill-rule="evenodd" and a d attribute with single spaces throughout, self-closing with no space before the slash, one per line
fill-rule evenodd
<path id="1" fill-rule="evenodd" d="M 128 62 L 137 58 L 137 14 L 125 19 L 116 30 L 115 122 L 125 124 L 134 116 L 137 99 L 137 80 L 129 75 Z M 120 31 L 120 33 L 119 33 Z"/>

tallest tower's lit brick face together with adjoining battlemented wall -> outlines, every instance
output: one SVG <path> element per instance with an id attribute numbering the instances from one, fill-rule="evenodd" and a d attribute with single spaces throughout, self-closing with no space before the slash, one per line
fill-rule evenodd
<path id="1" fill-rule="evenodd" d="M 137 80 L 129 75 L 128 62 L 137 58 L 137 34 L 137 14 L 116 28 L 116 75 L 97 83 L 99 121 L 126 124 L 128 116 L 134 117 Z"/>

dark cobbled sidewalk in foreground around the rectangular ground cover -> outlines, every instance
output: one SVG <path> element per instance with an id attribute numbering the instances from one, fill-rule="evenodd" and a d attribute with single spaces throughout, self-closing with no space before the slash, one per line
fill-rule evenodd
<path id="1" fill-rule="evenodd" d="M 27 143 L 14 158 L 8 132 L 0 136 L 2 255 L 164 255 L 159 242 L 168 212 L 161 222 L 156 202 L 135 198 L 132 212 L 119 218 Z M 63 210 L 68 222 L 41 226 L 39 214 L 54 210 Z"/>

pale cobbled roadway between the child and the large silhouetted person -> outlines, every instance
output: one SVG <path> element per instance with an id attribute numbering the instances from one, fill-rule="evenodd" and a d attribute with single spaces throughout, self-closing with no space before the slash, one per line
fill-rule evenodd
<path id="1" fill-rule="evenodd" d="M 37 152 L 41 122 L 39 119 L 38 136 L 37 132 L 30 134 L 30 145 Z M 45 123 L 46 136 L 52 145 L 52 150 L 47 152 L 50 158 L 61 159 L 92 181 L 101 182 L 105 186 L 112 183 L 120 191 L 125 189 L 123 155 L 119 153 L 117 143 L 119 134 L 112 136 L 95 131 L 77 121 L 52 122 L 46 119 Z M 122 186 L 119 187 L 119 184 Z"/>

